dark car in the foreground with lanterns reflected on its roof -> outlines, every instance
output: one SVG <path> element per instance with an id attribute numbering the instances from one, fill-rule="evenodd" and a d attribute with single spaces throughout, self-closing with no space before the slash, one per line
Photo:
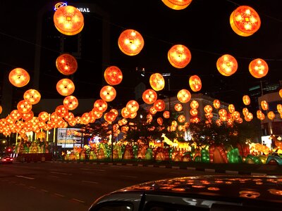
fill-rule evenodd
<path id="1" fill-rule="evenodd" d="M 281 210 L 282 177 L 199 176 L 149 181 L 109 193 L 94 210 Z"/>

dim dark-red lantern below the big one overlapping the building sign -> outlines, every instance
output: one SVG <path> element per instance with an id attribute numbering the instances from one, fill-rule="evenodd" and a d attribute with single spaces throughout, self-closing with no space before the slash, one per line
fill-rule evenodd
<path id="1" fill-rule="evenodd" d="M 64 53 L 56 59 L 56 68 L 63 75 L 72 75 L 78 70 L 78 62 L 71 54 Z"/>

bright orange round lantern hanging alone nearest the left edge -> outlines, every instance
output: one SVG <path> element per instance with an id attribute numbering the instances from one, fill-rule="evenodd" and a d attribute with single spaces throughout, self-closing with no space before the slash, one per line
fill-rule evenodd
<path id="1" fill-rule="evenodd" d="M 23 68 L 15 68 L 9 73 L 8 79 L 15 87 L 24 87 L 30 82 L 30 75 Z"/>

